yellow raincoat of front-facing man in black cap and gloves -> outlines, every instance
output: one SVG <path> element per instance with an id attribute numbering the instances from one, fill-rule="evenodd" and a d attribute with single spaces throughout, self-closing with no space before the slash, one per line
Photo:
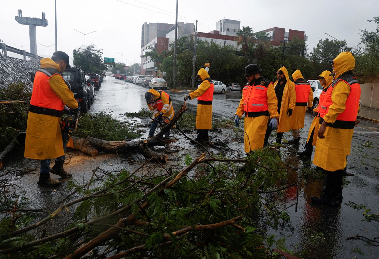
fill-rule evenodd
<path id="1" fill-rule="evenodd" d="M 245 113 L 243 103 L 244 100 L 242 95 L 240 105 L 235 113 L 235 115 L 238 115 L 240 118 Z M 270 114 L 269 117 L 258 116 L 244 118 L 244 148 L 246 153 L 249 153 L 251 150 L 263 148 L 269 118 L 279 118 L 278 100 L 276 99 L 272 83 L 270 83 L 267 88 L 267 105 L 268 113 Z"/>

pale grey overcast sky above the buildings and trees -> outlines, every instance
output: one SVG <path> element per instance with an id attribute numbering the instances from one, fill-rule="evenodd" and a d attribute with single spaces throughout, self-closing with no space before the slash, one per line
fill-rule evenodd
<path id="1" fill-rule="evenodd" d="M 70 56 L 72 50 L 84 45 L 82 33 L 96 31 L 86 36 L 86 45 L 102 48 L 104 57 L 128 61 L 128 65 L 140 62 L 141 25 L 144 22 L 175 24 L 175 0 L 57 0 L 58 50 Z M 55 44 L 54 0 L 0 0 L 0 39 L 7 45 L 30 51 L 27 25 L 14 19 L 17 9 L 23 16 L 41 18 L 46 13 L 47 27 L 37 27 L 38 55 L 46 56 L 45 46 Z M 254 31 L 271 27 L 305 31 L 308 35 L 308 52 L 320 38 L 346 39 L 349 47 L 360 43 L 359 29 L 375 28 L 367 22 L 378 16 L 378 0 L 179 0 L 178 21 L 195 23 L 198 31 L 216 30 L 221 19 L 240 20 L 242 26 Z M 51 57 L 55 46 L 49 47 Z M 17 55 L 9 54 L 13 57 Z"/>

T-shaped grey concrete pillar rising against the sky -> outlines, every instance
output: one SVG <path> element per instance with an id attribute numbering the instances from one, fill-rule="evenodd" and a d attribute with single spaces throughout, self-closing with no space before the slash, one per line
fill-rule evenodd
<path id="1" fill-rule="evenodd" d="M 30 41 L 30 53 L 37 55 L 37 35 L 36 35 L 36 26 L 46 27 L 49 25 L 49 22 L 46 20 L 45 13 L 42 13 L 42 19 L 23 17 L 22 11 L 18 10 L 19 15 L 15 16 L 14 19 L 19 24 L 29 25 L 29 41 Z M 36 58 L 31 58 L 31 61 L 36 62 Z"/>

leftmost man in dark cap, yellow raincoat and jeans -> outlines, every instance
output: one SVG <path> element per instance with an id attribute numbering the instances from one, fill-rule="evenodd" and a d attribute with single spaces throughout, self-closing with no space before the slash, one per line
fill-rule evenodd
<path id="1" fill-rule="evenodd" d="M 41 69 L 38 69 L 34 77 L 24 156 L 40 160 L 38 185 L 41 186 L 61 184 L 60 181 L 52 179 L 49 172 L 63 178 L 72 176 L 63 169 L 69 136 L 62 130 L 61 116 L 67 106 L 78 109 L 78 102 L 64 83 L 61 72 L 66 67 L 71 67 L 69 56 L 57 51 L 52 58 L 41 59 Z M 53 158 L 56 158 L 55 164 L 50 169 L 50 160 Z"/>

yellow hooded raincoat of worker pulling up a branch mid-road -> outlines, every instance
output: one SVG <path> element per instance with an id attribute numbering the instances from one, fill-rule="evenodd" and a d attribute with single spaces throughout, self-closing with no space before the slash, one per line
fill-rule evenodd
<path id="1" fill-rule="evenodd" d="M 210 88 L 211 86 L 210 82 L 208 80 L 205 80 L 209 78 L 210 76 L 204 68 L 200 68 L 197 74 L 200 75 L 201 80 L 203 80 L 203 82 L 200 84 L 199 88 L 197 88 L 192 93 L 188 94 L 189 97 L 191 97 L 191 100 L 204 94 L 205 91 L 207 91 L 207 89 Z M 197 104 L 196 129 L 211 129 L 211 128 L 212 128 L 212 105 L 211 104 Z"/>

